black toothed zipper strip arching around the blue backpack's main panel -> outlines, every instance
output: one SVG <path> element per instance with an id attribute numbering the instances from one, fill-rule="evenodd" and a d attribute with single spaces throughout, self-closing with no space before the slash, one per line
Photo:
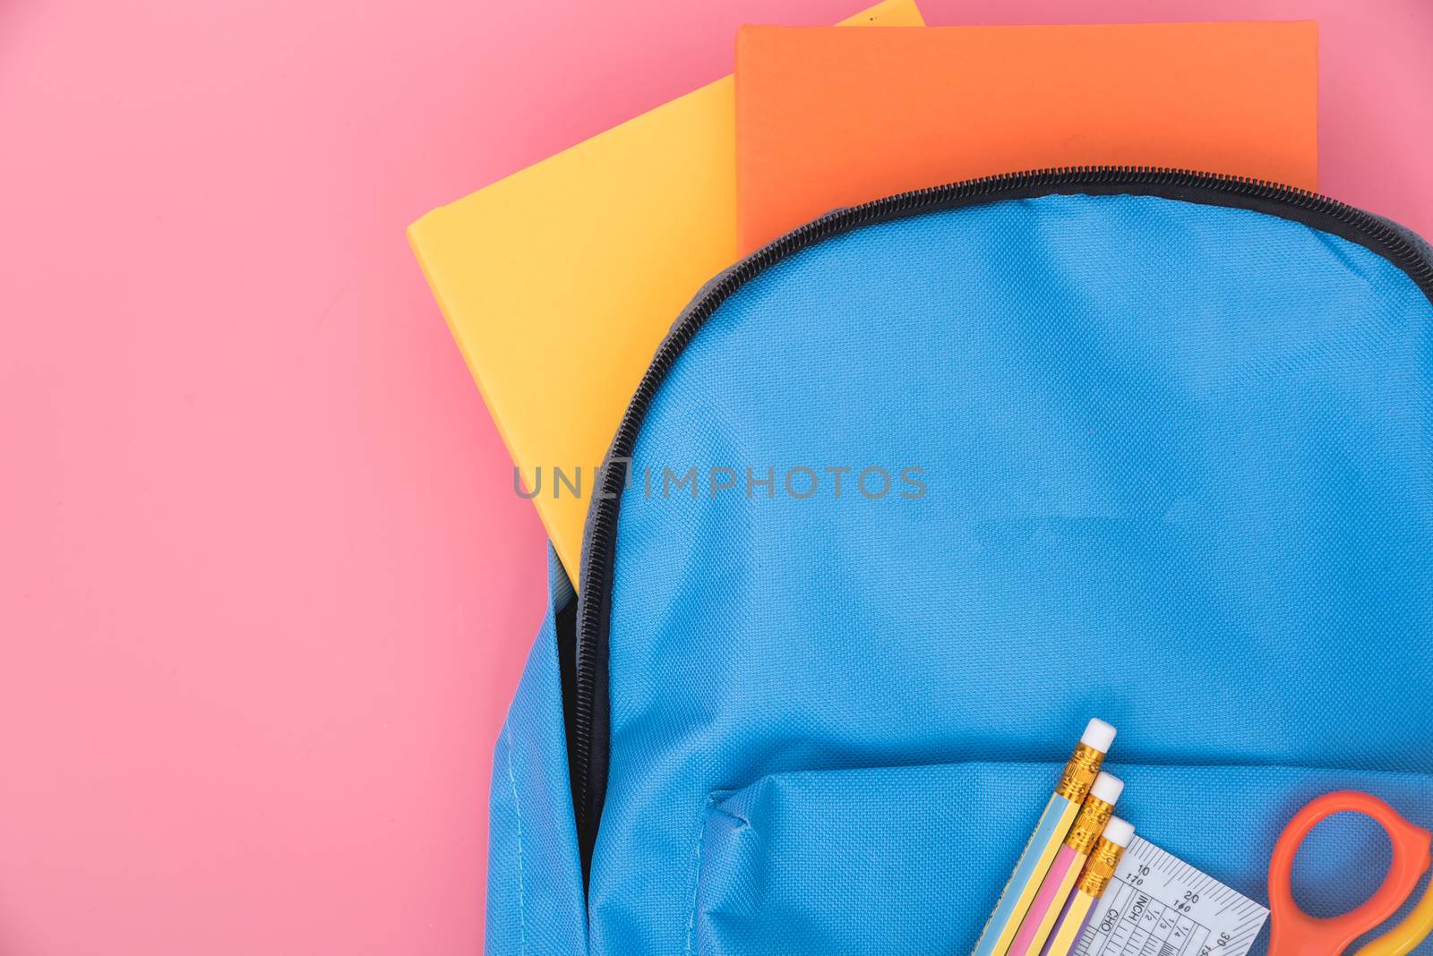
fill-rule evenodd
<path id="1" fill-rule="evenodd" d="M 752 253 L 738 265 L 732 266 L 716 283 L 714 283 L 695 302 L 681 323 L 672 329 L 662 342 L 652 364 L 648 366 L 636 394 L 632 396 L 622 424 L 612 439 L 612 458 L 629 458 L 636 435 L 642 426 L 642 419 L 656 395 L 658 386 L 671 371 L 676 356 L 695 338 L 696 332 L 708 318 L 725 302 L 737 289 L 749 282 L 755 275 L 768 269 L 774 263 L 785 259 L 791 253 L 804 249 L 828 236 L 848 232 L 853 228 L 868 225 L 884 219 L 897 219 L 906 213 L 919 212 L 927 208 L 940 206 L 953 200 L 979 199 L 1000 193 L 1017 192 L 1022 189 L 1048 189 L 1058 192 L 1070 186 L 1164 186 L 1164 187 L 1199 187 L 1217 190 L 1227 195 L 1247 196 L 1252 199 L 1278 202 L 1284 206 L 1314 212 L 1320 216 L 1331 218 L 1340 223 L 1369 236 L 1381 255 L 1399 265 L 1409 276 L 1433 299 L 1433 262 L 1430 262 L 1397 228 L 1373 216 L 1361 209 L 1341 203 L 1336 199 L 1318 193 L 1284 186 L 1280 183 L 1230 176 L 1219 173 L 1198 173 L 1182 169 L 1166 169 L 1161 166 L 1062 166 L 1053 169 L 1037 169 L 1019 173 L 1002 173 L 997 176 L 983 176 L 946 186 L 931 186 L 900 193 L 886 199 L 841 209 L 815 219 L 772 243 Z M 610 571 L 610 550 L 616 537 L 618 505 L 616 494 L 620 492 L 620 481 L 603 471 L 603 485 L 600 497 L 593 502 L 593 518 L 588 528 L 588 540 L 583 542 L 582 562 L 582 594 L 580 613 L 577 615 L 577 667 L 576 667 L 576 714 L 573 716 L 573 750 L 575 767 L 579 780 L 573 789 L 577 814 L 579 844 L 585 844 L 590 852 L 596 837 L 595 823 L 598 810 L 592 807 L 592 720 L 596 706 L 596 673 L 595 660 L 599 641 L 599 630 L 609 595 L 603 591 Z M 586 869 L 586 866 L 583 867 Z"/>

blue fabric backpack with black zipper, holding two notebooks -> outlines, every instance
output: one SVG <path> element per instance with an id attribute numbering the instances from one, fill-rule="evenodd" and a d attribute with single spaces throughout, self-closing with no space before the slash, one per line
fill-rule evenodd
<path id="1" fill-rule="evenodd" d="M 1096 714 L 1264 900 L 1313 796 L 1433 824 L 1433 255 L 1154 169 L 834 212 L 678 318 L 550 575 L 492 953 L 969 953 Z M 1320 834 L 1315 914 L 1387 859 Z"/>

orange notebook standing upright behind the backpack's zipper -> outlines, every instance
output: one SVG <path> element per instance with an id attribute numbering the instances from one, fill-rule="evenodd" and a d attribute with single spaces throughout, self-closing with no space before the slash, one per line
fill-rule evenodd
<path id="1" fill-rule="evenodd" d="M 742 252 L 838 206 L 1046 166 L 1317 186 L 1314 23 L 744 27 Z"/>

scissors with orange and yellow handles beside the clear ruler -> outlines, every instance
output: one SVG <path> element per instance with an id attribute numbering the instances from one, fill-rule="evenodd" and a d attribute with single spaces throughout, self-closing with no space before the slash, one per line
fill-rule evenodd
<path id="1" fill-rule="evenodd" d="M 1343 916 L 1314 919 L 1294 902 L 1294 854 L 1298 846 L 1321 820 L 1336 813 L 1361 813 L 1373 817 L 1389 834 L 1393 863 L 1377 892 L 1361 906 Z M 1338 956 L 1348 946 L 1399 912 L 1417 889 L 1419 879 L 1429 869 L 1429 844 L 1433 842 L 1423 827 L 1399 816 L 1383 800 L 1367 793 L 1340 790 L 1326 793 L 1294 814 L 1278 842 L 1268 864 L 1270 942 L 1268 956 Z M 1404 956 L 1433 933 L 1433 882 L 1423 899 L 1397 926 L 1358 949 L 1354 956 Z"/>

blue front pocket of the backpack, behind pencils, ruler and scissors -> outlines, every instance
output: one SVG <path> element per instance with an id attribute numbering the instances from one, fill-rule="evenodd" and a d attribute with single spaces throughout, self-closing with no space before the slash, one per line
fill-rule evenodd
<path id="1" fill-rule="evenodd" d="M 960 763 L 780 773 L 715 793 L 694 853 L 688 952 L 970 952 L 1059 769 Z M 1106 769 L 1125 780 L 1116 813 L 1141 836 L 1261 903 L 1274 840 L 1321 793 L 1364 790 L 1433 823 L 1433 777 L 1424 774 Z M 1300 903 L 1313 914 L 1347 910 L 1377 887 L 1387 859 L 1371 821 L 1350 814 L 1326 821 L 1298 857 Z"/>

